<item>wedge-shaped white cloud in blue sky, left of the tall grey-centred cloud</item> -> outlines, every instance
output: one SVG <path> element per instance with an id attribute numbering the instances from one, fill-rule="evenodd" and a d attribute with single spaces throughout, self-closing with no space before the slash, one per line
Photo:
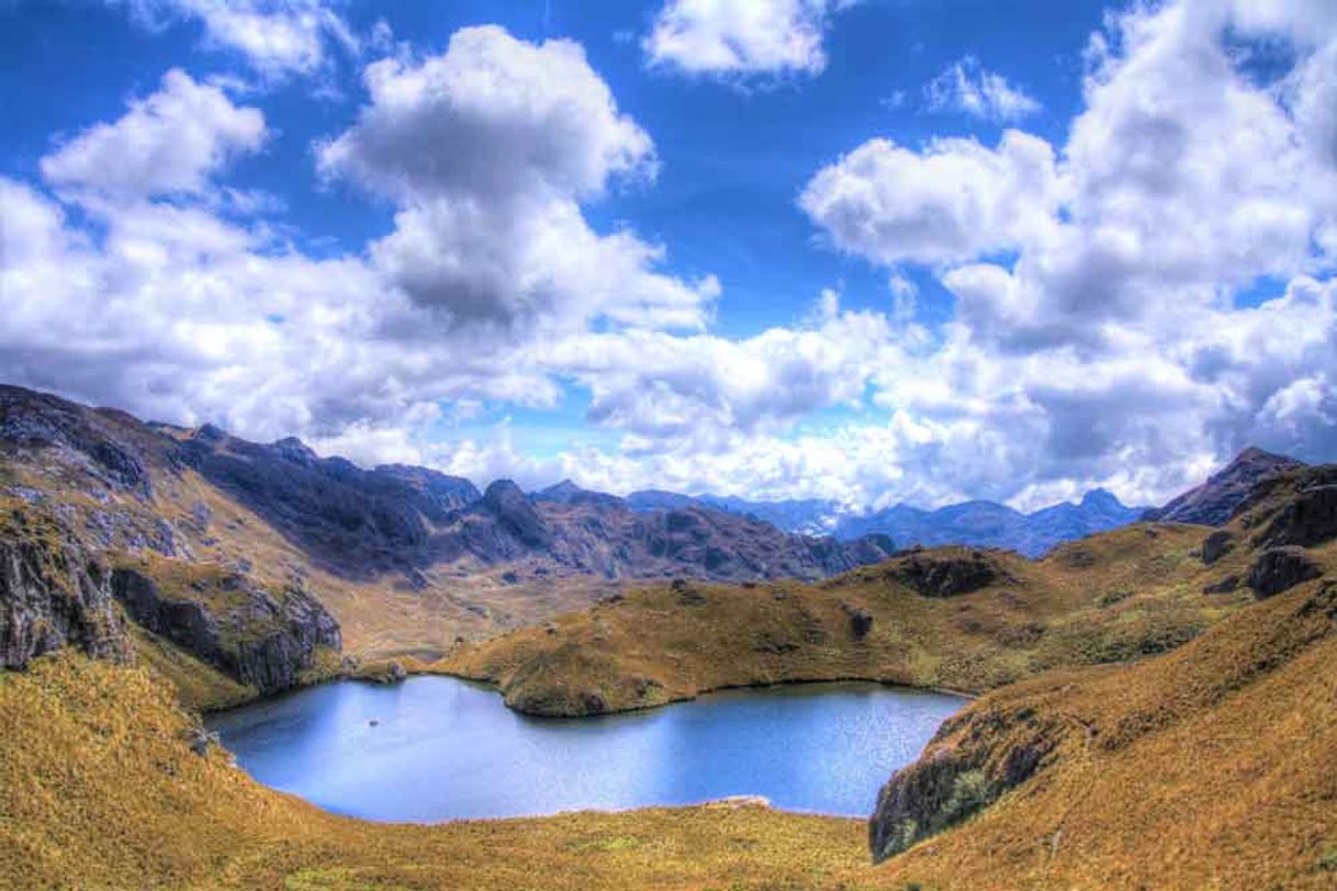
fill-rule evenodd
<path id="1" fill-rule="evenodd" d="M 209 178 L 265 142 L 265 116 L 174 68 L 114 124 L 83 131 L 41 160 L 48 182 L 124 199 L 205 191 Z"/>

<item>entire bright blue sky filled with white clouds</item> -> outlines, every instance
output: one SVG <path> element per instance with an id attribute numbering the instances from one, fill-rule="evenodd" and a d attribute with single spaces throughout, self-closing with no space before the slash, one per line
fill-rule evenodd
<path id="1" fill-rule="evenodd" d="M 1337 460 L 1332 0 L 0 0 L 0 381 L 850 509 Z"/>

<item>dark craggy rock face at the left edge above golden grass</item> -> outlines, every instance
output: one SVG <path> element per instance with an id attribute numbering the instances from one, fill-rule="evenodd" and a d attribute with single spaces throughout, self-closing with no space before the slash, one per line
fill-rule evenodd
<path id="1" fill-rule="evenodd" d="M 0 668 L 63 647 L 130 657 L 107 570 L 53 522 L 21 509 L 0 521 Z"/>

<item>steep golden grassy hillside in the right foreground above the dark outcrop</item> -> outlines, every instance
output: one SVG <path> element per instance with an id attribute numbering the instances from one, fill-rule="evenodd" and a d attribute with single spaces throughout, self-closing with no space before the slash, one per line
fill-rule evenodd
<path id="1" fill-rule="evenodd" d="M 1337 887 L 1337 581 L 1174 653 L 977 700 L 919 769 L 1044 739 L 1038 775 L 878 867 L 877 887 Z"/>

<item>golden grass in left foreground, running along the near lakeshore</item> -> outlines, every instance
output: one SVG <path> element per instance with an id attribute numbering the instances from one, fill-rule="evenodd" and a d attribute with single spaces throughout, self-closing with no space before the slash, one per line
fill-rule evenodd
<path id="1" fill-rule="evenodd" d="M 866 870 L 857 820 L 706 806 L 392 826 L 266 789 L 143 668 L 0 673 L 0 887 L 810 888 Z"/>

